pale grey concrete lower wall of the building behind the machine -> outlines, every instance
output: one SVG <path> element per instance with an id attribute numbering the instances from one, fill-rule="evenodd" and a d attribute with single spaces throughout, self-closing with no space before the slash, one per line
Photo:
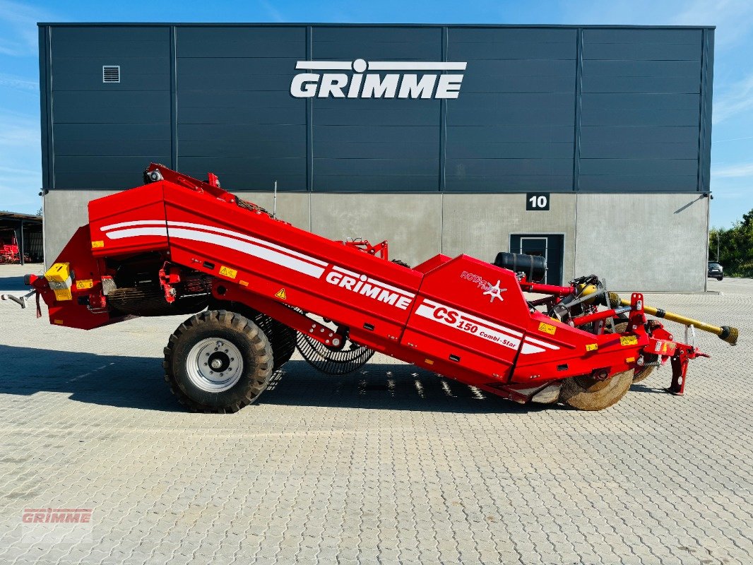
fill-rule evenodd
<path id="1" fill-rule="evenodd" d="M 44 198 L 45 262 L 78 226 L 89 200 L 110 191 L 50 191 Z M 238 193 L 268 210 L 271 193 Z M 389 240 L 390 257 L 419 264 L 436 255 L 492 261 L 511 234 L 563 234 L 563 279 L 598 274 L 611 290 L 703 291 L 709 199 L 693 194 L 551 194 L 526 212 L 525 194 L 279 193 L 277 215 L 334 240 Z"/>

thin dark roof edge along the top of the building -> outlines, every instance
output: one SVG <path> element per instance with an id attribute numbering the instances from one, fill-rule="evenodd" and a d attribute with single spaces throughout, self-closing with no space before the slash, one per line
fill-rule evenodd
<path id="1" fill-rule="evenodd" d="M 326 23 L 326 22 L 37 22 L 37 26 L 55 27 L 456 27 L 456 28 L 561 28 L 561 29 L 716 29 L 716 26 L 642 26 L 564 23 Z"/>

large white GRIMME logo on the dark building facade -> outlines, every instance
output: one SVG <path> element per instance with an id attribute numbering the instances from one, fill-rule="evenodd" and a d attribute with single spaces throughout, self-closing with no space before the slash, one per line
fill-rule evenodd
<path id="1" fill-rule="evenodd" d="M 457 98 L 463 75 L 450 72 L 465 71 L 467 65 L 363 59 L 352 63 L 298 61 L 296 69 L 311 72 L 295 75 L 290 93 L 295 98 Z"/>

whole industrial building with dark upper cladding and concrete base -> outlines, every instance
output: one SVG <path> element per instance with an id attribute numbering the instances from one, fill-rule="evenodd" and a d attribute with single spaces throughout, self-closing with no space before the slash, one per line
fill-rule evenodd
<path id="1" fill-rule="evenodd" d="M 706 286 L 714 28 L 41 23 L 47 263 L 151 161 L 334 239 Z"/>

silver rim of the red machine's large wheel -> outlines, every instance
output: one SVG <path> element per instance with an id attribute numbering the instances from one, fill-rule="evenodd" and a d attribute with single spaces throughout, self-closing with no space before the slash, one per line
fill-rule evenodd
<path id="1" fill-rule="evenodd" d="M 243 356 L 230 341 L 209 337 L 191 347 L 186 370 L 197 388 L 206 392 L 224 392 L 240 380 Z"/>

